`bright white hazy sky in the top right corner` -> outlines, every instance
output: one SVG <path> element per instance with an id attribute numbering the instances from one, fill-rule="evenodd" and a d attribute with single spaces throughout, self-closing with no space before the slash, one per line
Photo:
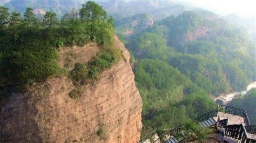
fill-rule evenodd
<path id="1" fill-rule="evenodd" d="M 221 15 L 256 16 L 256 0 L 177 0 L 193 3 Z"/>

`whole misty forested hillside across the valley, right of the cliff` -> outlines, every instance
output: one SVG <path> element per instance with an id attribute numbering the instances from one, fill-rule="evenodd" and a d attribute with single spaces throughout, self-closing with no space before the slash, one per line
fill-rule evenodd
<path id="1" fill-rule="evenodd" d="M 210 96 L 256 80 L 247 32 L 208 11 L 185 11 L 124 38 L 138 61 L 144 131 L 195 118 L 215 108 Z"/>

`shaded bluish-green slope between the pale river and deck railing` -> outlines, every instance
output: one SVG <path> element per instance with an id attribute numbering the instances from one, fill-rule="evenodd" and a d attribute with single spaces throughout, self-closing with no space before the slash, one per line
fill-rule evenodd
<path id="1" fill-rule="evenodd" d="M 256 88 L 253 88 L 242 98 L 234 99 L 228 105 L 246 110 L 252 125 L 256 124 Z"/>

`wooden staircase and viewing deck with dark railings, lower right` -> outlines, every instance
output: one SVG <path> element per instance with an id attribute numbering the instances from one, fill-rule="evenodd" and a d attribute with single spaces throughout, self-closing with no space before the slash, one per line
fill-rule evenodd
<path id="1" fill-rule="evenodd" d="M 194 121 L 199 122 L 203 127 L 216 126 L 221 136 L 219 142 L 248 142 L 256 143 L 256 125 L 251 125 L 247 113 L 244 109 L 235 108 L 231 106 L 218 105 L 217 110 L 207 112 L 200 115 Z M 182 142 L 186 138 L 187 131 L 183 126 L 175 127 L 169 130 L 164 130 L 165 142 L 176 143 Z M 181 132 L 183 137 L 176 138 L 173 134 Z M 156 135 L 156 132 L 152 132 Z M 150 136 L 149 134 L 147 135 Z M 140 142 L 144 142 L 147 137 L 142 138 Z M 152 141 L 151 141 L 152 142 Z M 156 139 L 153 142 L 160 142 Z"/>

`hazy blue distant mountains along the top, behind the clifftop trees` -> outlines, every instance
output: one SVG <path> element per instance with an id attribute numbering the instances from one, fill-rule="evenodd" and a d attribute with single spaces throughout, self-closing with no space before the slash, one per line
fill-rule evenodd
<path id="1" fill-rule="evenodd" d="M 21 13 L 23 13 L 27 7 L 31 7 L 33 9 L 39 9 L 41 11 L 50 10 L 57 13 L 58 16 L 63 16 L 65 13 L 68 13 L 72 9 L 79 9 L 81 7 L 81 4 L 85 2 L 86 0 L 2 0 L 0 1 L 0 4 L 3 4 L 6 7 L 10 8 L 11 11 L 18 11 Z M 165 0 L 151 0 L 149 2 L 98 0 L 96 2 L 102 5 L 104 9 L 109 12 L 110 15 L 112 15 L 115 19 L 133 16 L 139 13 L 148 13 L 152 15 L 154 19 L 160 19 L 169 15 L 178 15 L 180 12 L 186 9 L 186 7 L 181 4 Z"/>

